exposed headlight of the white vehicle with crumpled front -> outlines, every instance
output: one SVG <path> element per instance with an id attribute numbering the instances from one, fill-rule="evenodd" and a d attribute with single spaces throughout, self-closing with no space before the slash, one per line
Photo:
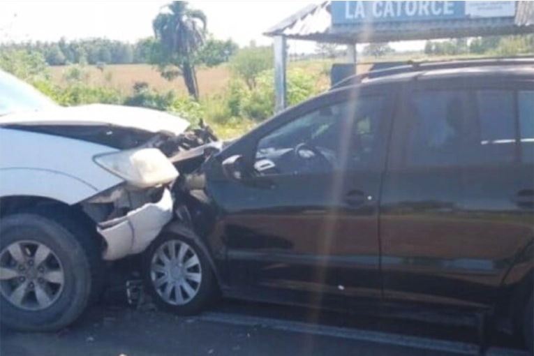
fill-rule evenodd
<path id="1" fill-rule="evenodd" d="M 175 166 L 156 148 L 100 154 L 94 157 L 94 161 L 139 188 L 170 183 L 178 177 Z"/>

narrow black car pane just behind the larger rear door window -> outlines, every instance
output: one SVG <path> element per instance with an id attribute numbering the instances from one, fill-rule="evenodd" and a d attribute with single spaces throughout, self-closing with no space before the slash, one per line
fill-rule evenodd
<path id="1" fill-rule="evenodd" d="M 479 132 L 470 163 L 512 163 L 516 152 L 514 91 L 478 90 L 475 97 Z"/>

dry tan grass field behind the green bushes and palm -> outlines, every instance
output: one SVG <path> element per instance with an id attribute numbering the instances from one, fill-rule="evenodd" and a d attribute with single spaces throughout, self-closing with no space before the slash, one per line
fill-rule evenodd
<path id="1" fill-rule="evenodd" d="M 329 68 L 331 61 L 302 61 L 289 64 L 289 67 L 303 68 L 309 73 L 316 73 L 320 82 L 329 83 Z M 357 71 L 364 73 L 369 70 L 369 64 L 358 66 Z M 52 80 L 58 84 L 65 84 L 65 75 L 68 66 L 52 67 Z M 161 77 L 158 71 L 148 64 L 120 64 L 108 65 L 102 70 L 96 66 L 84 67 L 87 74 L 87 82 L 98 87 L 119 88 L 124 93 L 131 93 L 135 82 L 147 82 L 150 87 L 158 91 L 174 90 L 180 94 L 186 94 L 186 87 L 182 77 L 168 81 Z M 216 68 L 199 68 L 197 71 L 200 96 L 209 96 L 223 91 L 228 85 L 232 73 L 226 65 Z"/>

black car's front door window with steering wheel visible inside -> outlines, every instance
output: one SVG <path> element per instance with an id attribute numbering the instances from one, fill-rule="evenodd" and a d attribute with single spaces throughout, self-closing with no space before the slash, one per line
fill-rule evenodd
<path id="1" fill-rule="evenodd" d="M 325 105 L 296 117 L 258 142 L 262 175 L 358 170 L 373 156 L 383 116 L 382 96 Z"/>

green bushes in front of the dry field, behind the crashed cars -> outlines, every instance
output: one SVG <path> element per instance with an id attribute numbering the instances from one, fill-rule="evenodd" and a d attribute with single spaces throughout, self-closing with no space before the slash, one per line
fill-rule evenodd
<path id="1" fill-rule="evenodd" d="M 320 71 L 320 65 L 313 67 Z M 64 67 L 61 78 L 53 80 L 51 69 L 55 68 L 50 68 L 42 54 L 28 50 L 1 52 L 0 68 L 34 85 L 61 105 L 109 103 L 165 110 L 192 124 L 205 119 L 221 138 L 232 138 L 249 131 L 271 116 L 274 110 L 274 73 L 271 68 L 261 68 L 253 73 L 253 87 L 249 87 L 241 75 L 228 71 L 223 78 L 226 83 L 223 89 L 205 94 L 198 100 L 184 91 L 156 90 L 148 82 L 134 82 L 127 89 L 118 87 L 112 84 L 113 72 L 109 72 L 106 84 L 94 84 L 94 68 L 82 64 Z M 306 68 L 309 68 L 306 64 L 290 68 L 288 100 L 291 104 L 304 101 L 328 87 L 325 75 L 306 71 Z M 202 89 L 202 82 L 199 87 Z"/>

